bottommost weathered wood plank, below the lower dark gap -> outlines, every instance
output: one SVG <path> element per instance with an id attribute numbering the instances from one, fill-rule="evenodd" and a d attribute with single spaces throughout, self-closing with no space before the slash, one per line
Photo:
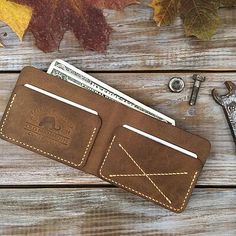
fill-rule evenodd
<path id="1" fill-rule="evenodd" d="M 1 189 L 1 235 L 235 235 L 236 190 L 196 189 L 171 213 L 120 189 Z"/>

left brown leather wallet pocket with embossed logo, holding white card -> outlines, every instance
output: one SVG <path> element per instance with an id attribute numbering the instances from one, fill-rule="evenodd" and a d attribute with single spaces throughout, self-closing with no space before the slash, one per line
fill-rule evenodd
<path id="1" fill-rule="evenodd" d="M 101 126 L 98 113 L 37 87 L 15 88 L 0 124 L 3 139 L 76 168 Z"/>

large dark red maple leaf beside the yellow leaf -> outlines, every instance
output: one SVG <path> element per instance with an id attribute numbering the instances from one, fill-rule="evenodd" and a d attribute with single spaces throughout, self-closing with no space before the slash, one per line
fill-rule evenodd
<path id="1" fill-rule="evenodd" d="M 136 0 L 12 0 L 33 9 L 29 30 L 44 52 L 59 48 L 64 33 L 73 31 L 85 49 L 104 51 L 111 27 L 101 8 L 121 9 Z"/>

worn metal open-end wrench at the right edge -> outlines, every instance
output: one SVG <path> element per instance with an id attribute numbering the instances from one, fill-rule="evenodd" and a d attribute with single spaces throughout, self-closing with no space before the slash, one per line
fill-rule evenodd
<path id="1" fill-rule="evenodd" d="M 229 90 L 226 95 L 219 95 L 216 89 L 213 89 L 212 96 L 223 107 L 236 144 L 236 85 L 232 81 L 226 81 L 225 86 Z"/>

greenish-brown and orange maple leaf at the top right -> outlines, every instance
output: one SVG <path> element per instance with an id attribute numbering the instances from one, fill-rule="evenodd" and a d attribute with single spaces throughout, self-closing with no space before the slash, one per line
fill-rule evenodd
<path id="1" fill-rule="evenodd" d="M 158 26 L 173 23 L 180 14 L 187 36 L 209 40 L 220 24 L 220 4 L 232 6 L 236 0 L 152 0 L 150 6 Z"/>

